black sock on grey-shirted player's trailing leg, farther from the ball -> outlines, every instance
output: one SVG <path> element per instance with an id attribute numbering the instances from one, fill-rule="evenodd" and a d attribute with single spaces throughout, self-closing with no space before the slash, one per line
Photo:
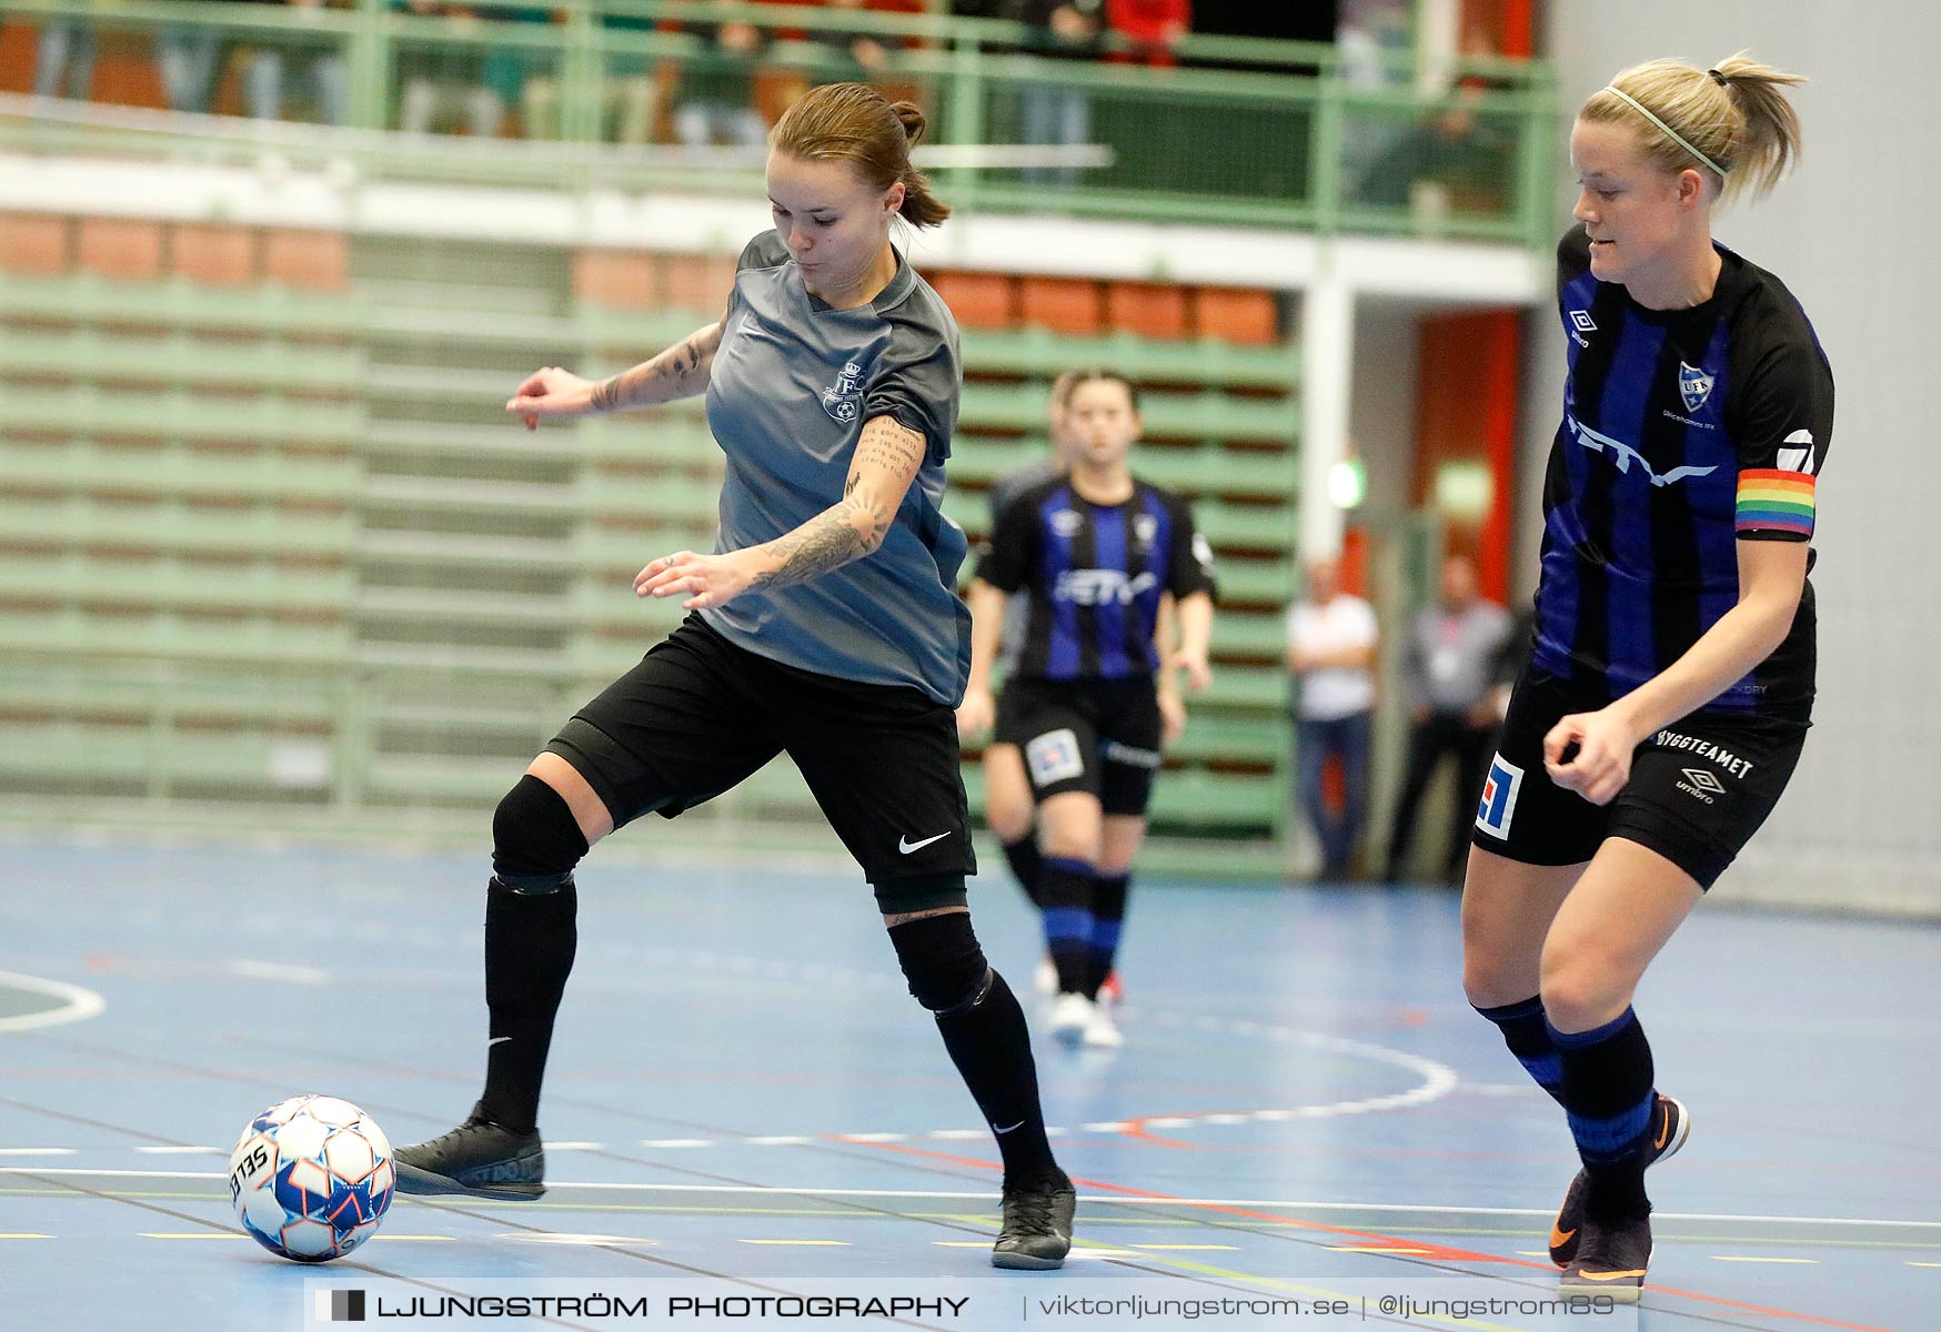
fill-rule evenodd
<path id="1" fill-rule="evenodd" d="M 963 1074 L 1003 1153 L 1005 1186 L 1060 1175 L 1044 1138 L 1038 1105 L 1038 1064 L 1031 1056 L 1025 1010 L 996 971 L 988 984 L 953 1010 L 938 1014 L 943 1049 Z"/>

